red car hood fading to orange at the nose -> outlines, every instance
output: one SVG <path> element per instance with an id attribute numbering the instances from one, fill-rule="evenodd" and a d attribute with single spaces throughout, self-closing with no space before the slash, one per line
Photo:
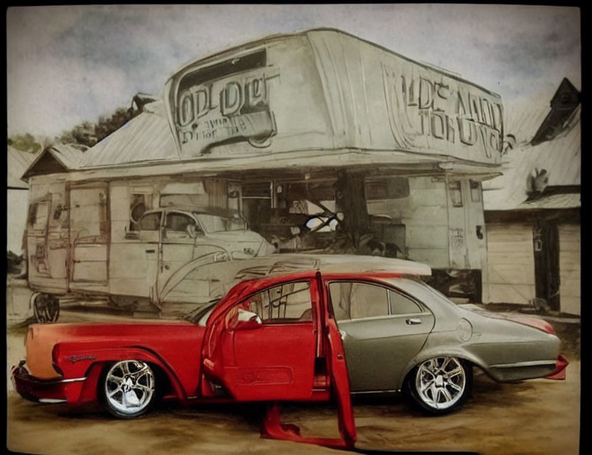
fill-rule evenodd
<path id="1" fill-rule="evenodd" d="M 114 347 L 146 346 L 158 352 L 179 338 L 202 336 L 203 327 L 188 321 L 33 324 L 26 336 L 26 365 L 36 378 L 56 378 L 51 353 L 58 343 L 112 342 Z"/>

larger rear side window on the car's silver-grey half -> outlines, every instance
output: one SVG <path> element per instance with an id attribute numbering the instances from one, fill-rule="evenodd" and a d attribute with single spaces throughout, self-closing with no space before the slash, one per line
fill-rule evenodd
<path id="1" fill-rule="evenodd" d="M 329 293 L 337 321 L 388 316 L 388 290 L 355 282 L 332 282 Z"/>

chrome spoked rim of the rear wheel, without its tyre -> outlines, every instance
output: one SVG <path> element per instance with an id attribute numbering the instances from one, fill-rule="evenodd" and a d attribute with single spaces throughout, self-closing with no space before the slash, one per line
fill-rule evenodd
<path id="1" fill-rule="evenodd" d="M 418 398 L 431 410 L 448 410 L 465 393 L 467 373 L 455 357 L 438 357 L 419 365 L 415 388 Z"/>

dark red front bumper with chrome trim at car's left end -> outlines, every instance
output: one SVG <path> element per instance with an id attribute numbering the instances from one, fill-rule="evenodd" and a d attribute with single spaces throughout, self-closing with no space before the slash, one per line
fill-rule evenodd
<path id="1" fill-rule="evenodd" d="M 14 388 L 26 400 L 39 403 L 75 402 L 80 396 L 86 378 L 41 379 L 26 369 L 25 360 L 12 368 Z"/>

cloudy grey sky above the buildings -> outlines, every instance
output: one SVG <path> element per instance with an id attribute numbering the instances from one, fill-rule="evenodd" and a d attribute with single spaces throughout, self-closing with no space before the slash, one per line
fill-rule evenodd
<path id="1" fill-rule="evenodd" d="M 581 89 L 580 11 L 464 4 L 105 5 L 6 13 L 8 134 L 54 137 L 158 95 L 181 65 L 274 33 L 331 27 L 497 92 Z"/>

